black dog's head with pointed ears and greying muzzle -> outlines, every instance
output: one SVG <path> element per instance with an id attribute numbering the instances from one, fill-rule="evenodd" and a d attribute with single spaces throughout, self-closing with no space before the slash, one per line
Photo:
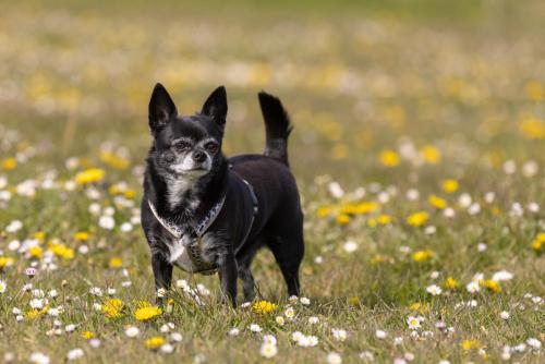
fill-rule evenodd
<path id="1" fill-rule="evenodd" d="M 196 180 L 215 169 L 222 158 L 221 142 L 227 117 L 226 88 L 216 88 L 201 112 L 178 114 L 167 89 L 157 84 L 149 100 L 149 155 L 157 171 L 175 179 Z"/>

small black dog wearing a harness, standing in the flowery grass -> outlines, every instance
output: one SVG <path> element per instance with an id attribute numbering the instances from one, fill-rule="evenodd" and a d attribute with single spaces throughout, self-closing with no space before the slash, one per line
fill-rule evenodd
<path id="1" fill-rule="evenodd" d="M 142 226 L 158 291 L 170 287 L 175 265 L 189 272 L 218 271 L 223 298 L 233 305 L 239 277 L 250 301 L 250 266 L 266 245 L 280 266 L 288 294 L 299 295 L 303 214 L 288 166 L 291 125 L 278 98 L 262 92 L 259 104 L 267 137 L 264 155 L 227 159 L 221 153 L 225 87 L 211 93 L 201 112 L 181 117 L 165 87 L 155 86 Z"/>

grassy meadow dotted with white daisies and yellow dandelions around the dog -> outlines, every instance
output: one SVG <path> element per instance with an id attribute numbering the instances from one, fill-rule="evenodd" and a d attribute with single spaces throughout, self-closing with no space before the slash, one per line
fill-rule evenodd
<path id="1" fill-rule="evenodd" d="M 540 1 L 2 2 L 5 363 L 543 363 Z M 140 226 L 147 105 L 227 87 L 225 153 L 279 96 L 305 213 L 302 296 L 174 272 L 155 306 Z"/>

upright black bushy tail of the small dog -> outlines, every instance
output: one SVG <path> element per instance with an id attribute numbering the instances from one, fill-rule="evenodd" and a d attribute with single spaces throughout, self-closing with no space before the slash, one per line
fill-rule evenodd
<path id="1" fill-rule="evenodd" d="M 265 119 L 266 145 L 264 154 L 289 166 L 288 137 L 292 125 L 280 100 L 265 92 L 259 93 L 259 106 Z"/>

